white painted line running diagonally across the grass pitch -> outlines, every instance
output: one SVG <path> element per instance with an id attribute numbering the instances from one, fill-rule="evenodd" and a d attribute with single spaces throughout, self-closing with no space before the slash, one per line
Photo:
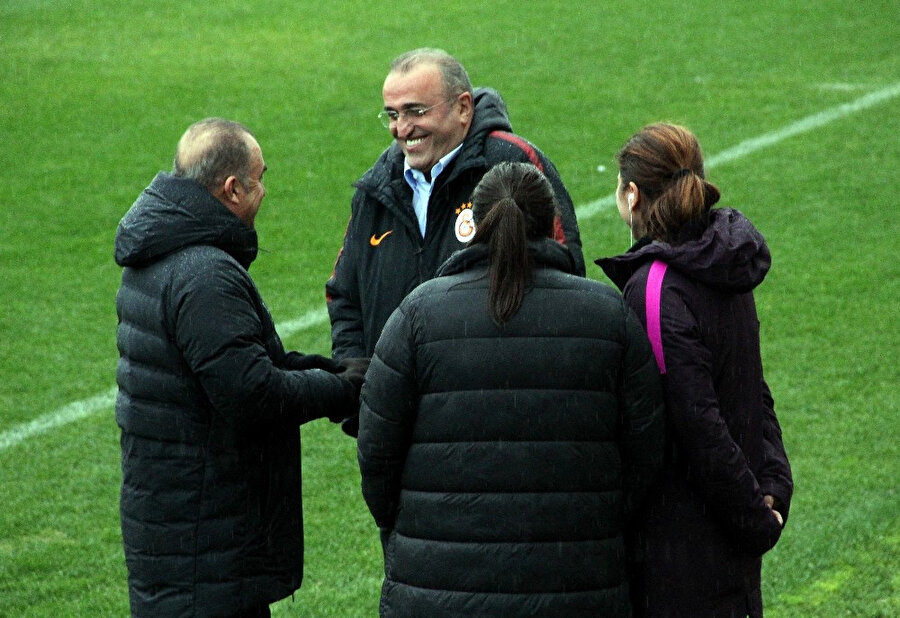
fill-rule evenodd
<path id="1" fill-rule="evenodd" d="M 884 101 L 893 99 L 898 95 L 900 95 L 900 83 L 869 93 L 855 101 L 826 109 L 818 114 L 807 116 L 806 118 L 801 118 L 797 122 L 782 127 L 777 131 L 764 133 L 759 137 L 748 139 L 732 148 L 718 153 L 717 155 L 708 157 L 705 161 L 706 168 L 709 169 L 717 165 L 722 165 L 723 163 L 729 163 L 736 159 L 740 159 L 757 150 L 774 146 L 790 137 L 812 131 L 813 129 L 822 127 L 835 120 L 840 120 L 841 118 L 845 118 Z M 612 193 L 606 197 L 602 197 L 576 208 L 575 212 L 579 220 L 590 219 L 603 210 L 613 206 L 615 202 L 615 194 Z M 278 324 L 276 328 L 281 337 L 287 338 L 295 333 L 325 324 L 327 321 L 327 310 L 324 307 L 319 307 L 306 312 L 303 316 L 295 320 L 282 322 L 281 324 Z M 108 409 L 115 403 L 115 397 L 116 387 L 113 387 L 99 395 L 89 397 L 88 399 L 82 399 L 81 401 L 75 401 L 58 410 L 48 412 L 33 421 L 16 425 L 12 429 L 7 429 L 3 433 L 0 433 L 0 451 L 16 446 L 32 436 L 46 433 L 56 427 L 73 423 L 86 416 Z"/>

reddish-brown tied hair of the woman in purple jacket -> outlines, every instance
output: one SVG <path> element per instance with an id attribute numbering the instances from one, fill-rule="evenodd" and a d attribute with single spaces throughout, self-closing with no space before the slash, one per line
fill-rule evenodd
<path id="1" fill-rule="evenodd" d="M 685 127 L 657 123 L 633 135 L 616 155 L 622 186 L 634 182 L 646 200 L 647 235 L 672 242 L 692 220 L 705 220 L 719 201 L 708 182 L 697 138 Z"/>

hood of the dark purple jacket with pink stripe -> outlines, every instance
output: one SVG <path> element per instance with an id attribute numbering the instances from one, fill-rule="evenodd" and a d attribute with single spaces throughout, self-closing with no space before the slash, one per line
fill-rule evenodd
<path id="1" fill-rule="evenodd" d="M 772 264 L 766 240 L 743 214 L 715 208 L 704 224 L 688 225 L 677 244 L 644 239 L 627 253 L 595 260 L 619 289 L 643 264 L 662 260 L 712 288 L 748 292 L 762 283 Z"/>

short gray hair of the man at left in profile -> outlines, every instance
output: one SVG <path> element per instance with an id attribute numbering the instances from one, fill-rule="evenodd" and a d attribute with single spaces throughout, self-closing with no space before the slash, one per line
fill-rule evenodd
<path id="1" fill-rule="evenodd" d="M 228 176 L 236 176 L 245 187 L 250 182 L 250 130 L 224 118 L 195 122 L 175 150 L 173 175 L 189 178 L 212 191 Z"/>

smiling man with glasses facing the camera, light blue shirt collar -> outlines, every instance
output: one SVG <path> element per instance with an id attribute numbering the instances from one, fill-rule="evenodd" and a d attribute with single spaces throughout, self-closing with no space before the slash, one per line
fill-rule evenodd
<path id="1" fill-rule="evenodd" d="M 572 200 L 551 161 L 512 133 L 496 91 L 473 89 L 458 60 L 423 48 L 393 61 L 382 98 L 378 118 L 394 142 L 355 185 L 325 286 L 335 358 L 371 356 L 400 301 L 472 238 L 472 190 L 501 161 L 533 163 L 550 179 L 560 208 L 556 239 L 584 275 Z M 345 424 L 351 435 L 353 422 Z"/>

